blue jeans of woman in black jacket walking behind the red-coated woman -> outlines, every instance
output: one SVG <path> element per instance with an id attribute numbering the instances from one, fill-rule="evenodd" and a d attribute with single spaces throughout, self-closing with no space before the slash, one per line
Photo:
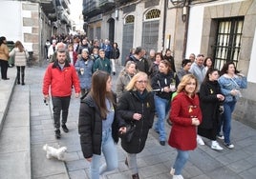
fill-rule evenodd
<path id="1" fill-rule="evenodd" d="M 155 100 L 155 107 L 159 115 L 159 118 L 155 123 L 154 129 L 160 132 L 160 141 L 165 141 L 166 131 L 164 128 L 165 126 L 164 123 L 165 123 L 165 116 L 168 113 L 168 110 L 170 109 L 170 102 L 169 100 L 160 98 L 157 95 L 154 96 L 154 100 Z"/>

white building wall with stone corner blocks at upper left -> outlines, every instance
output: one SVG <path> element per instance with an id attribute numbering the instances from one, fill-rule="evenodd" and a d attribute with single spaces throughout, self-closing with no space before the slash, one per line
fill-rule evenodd
<path id="1" fill-rule="evenodd" d="M 8 41 L 20 40 L 26 50 L 33 51 L 33 57 L 38 60 L 40 55 L 40 24 L 39 5 L 29 2 L 1 2 L 1 35 Z M 15 11 L 8 15 L 10 11 Z"/>

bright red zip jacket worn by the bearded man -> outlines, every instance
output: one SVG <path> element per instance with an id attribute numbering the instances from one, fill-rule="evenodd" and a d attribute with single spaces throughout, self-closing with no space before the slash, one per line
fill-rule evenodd
<path id="1" fill-rule="evenodd" d="M 80 85 L 75 67 L 66 62 L 64 69 L 60 70 L 58 62 L 55 61 L 49 65 L 44 76 L 43 94 L 49 94 L 51 86 L 51 95 L 56 97 L 71 96 L 72 87 L 75 87 L 75 93 L 80 92 Z"/>

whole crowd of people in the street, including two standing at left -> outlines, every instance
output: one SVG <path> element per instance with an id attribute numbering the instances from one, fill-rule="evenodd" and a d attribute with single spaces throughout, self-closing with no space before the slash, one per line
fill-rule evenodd
<path id="1" fill-rule="evenodd" d="M 142 47 L 132 49 L 121 60 L 117 42 L 91 42 L 82 36 L 53 36 L 46 41 L 45 50 L 50 64 L 42 91 L 45 100 L 53 102 L 54 135 L 61 138 L 60 128 L 69 132 L 67 119 L 75 91 L 75 97 L 81 97 L 80 144 L 84 158 L 90 162 L 92 179 L 117 169 L 119 139 L 126 151 L 125 165 L 131 169 L 132 178 L 139 179 L 137 154 L 145 147 L 149 129 L 158 133 L 161 146 L 167 142 L 177 149 L 176 160 L 170 164 L 174 179 L 183 178 L 189 150 L 204 145 L 205 138 L 211 141 L 211 149 L 235 147 L 230 137 L 231 116 L 247 81 L 233 62 L 217 70 L 211 57 L 191 53 L 179 68 L 171 50 L 150 50 L 147 56 Z M 17 84 L 25 85 L 27 50 L 17 41 L 9 51 L 6 38 L 0 37 L 3 80 L 9 79 L 10 56 L 17 68 Z M 124 68 L 117 73 L 120 65 Z M 113 75 L 117 75 L 116 91 Z M 169 134 L 166 118 L 171 125 Z M 101 155 L 105 164 L 100 166 Z"/>

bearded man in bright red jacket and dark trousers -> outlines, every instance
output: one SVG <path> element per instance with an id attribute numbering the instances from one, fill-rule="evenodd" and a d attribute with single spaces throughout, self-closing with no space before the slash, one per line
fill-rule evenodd
<path id="1" fill-rule="evenodd" d="M 49 65 L 43 82 L 44 99 L 49 100 L 49 89 L 53 102 L 53 119 L 55 137 L 60 138 L 60 112 L 62 110 L 62 129 L 69 132 L 66 126 L 72 87 L 75 88 L 75 97 L 79 97 L 80 85 L 75 67 L 67 61 L 66 50 L 57 50 L 57 60 Z"/>

